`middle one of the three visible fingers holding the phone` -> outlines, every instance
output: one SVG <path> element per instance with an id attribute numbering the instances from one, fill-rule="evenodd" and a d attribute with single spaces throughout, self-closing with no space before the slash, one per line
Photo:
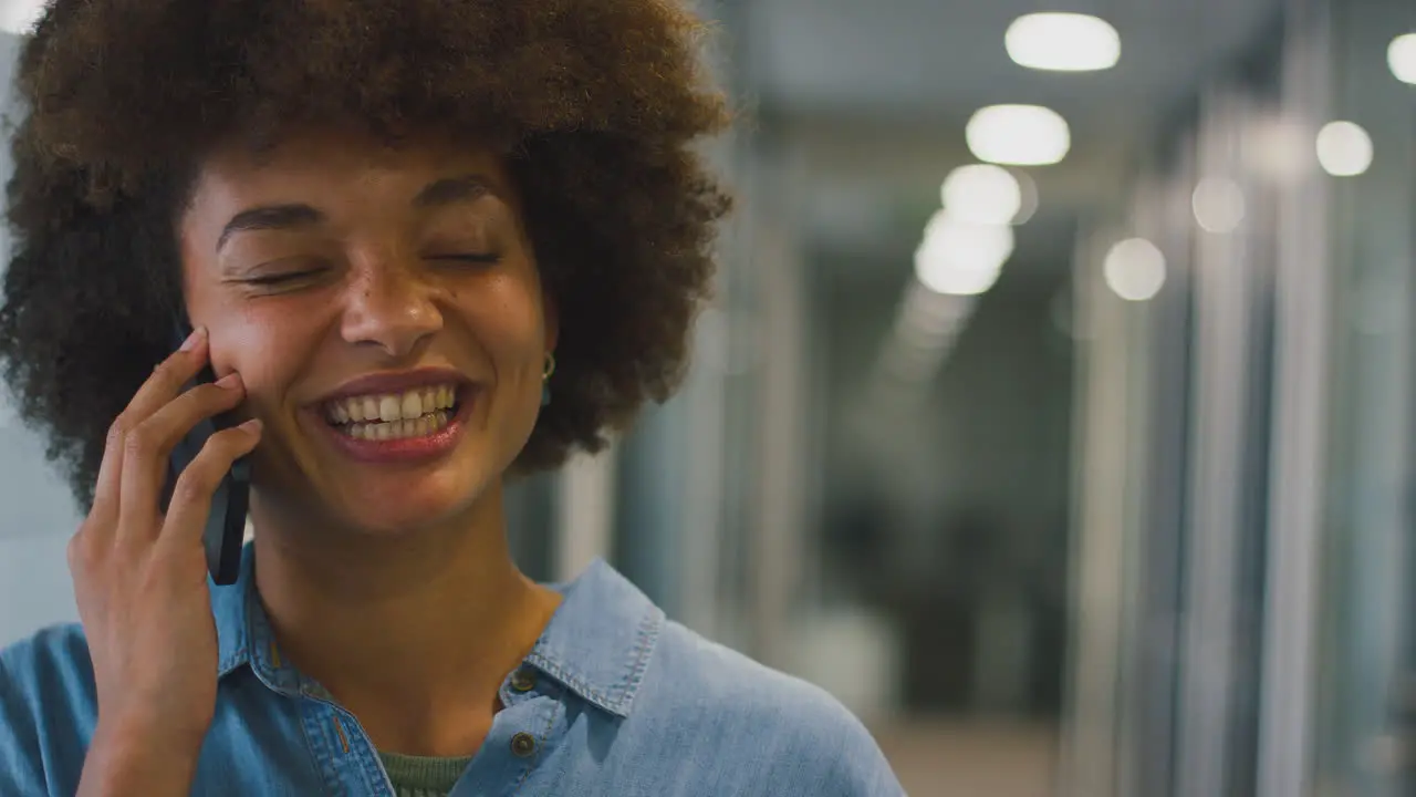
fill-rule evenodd
<path id="1" fill-rule="evenodd" d="M 149 539 L 157 535 L 159 499 L 167 481 L 173 448 L 204 418 L 232 410 L 244 396 L 241 377 L 232 373 L 215 384 L 198 384 L 181 393 L 127 434 L 123 445 L 120 528 Z"/>

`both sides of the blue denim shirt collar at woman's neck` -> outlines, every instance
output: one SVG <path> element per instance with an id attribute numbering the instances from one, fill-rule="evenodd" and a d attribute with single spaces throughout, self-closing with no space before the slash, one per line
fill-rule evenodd
<path id="1" fill-rule="evenodd" d="M 596 559 L 573 581 L 554 587 L 561 606 L 527 657 L 527 664 L 583 701 L 615 716 L 629 716 L 664 627 L 664 613 L 634 584 Z M 266 686 L 282 693 L 317 692 L 276 650 L 255 589 L 255 557 L 246 545 L 235 584 L 211 587 L 217 621 L 218 675 L 251 665 Z"/>

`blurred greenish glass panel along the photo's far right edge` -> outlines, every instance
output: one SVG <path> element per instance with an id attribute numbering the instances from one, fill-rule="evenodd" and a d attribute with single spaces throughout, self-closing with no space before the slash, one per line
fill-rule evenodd
<path id="1" fill-rule="evenodd" d="M 1340 174 L 1327 206 L 1332 387 L 1314 794 L 1395 797 L 1416 788 L 1416 87 L 1396 79 L 1388 50 L 1416 33 L 1416 6 L 1334 0 L 1328 20 L 1330 116 L 1340 125 L 1324 130 L 1320 156 Z"/>

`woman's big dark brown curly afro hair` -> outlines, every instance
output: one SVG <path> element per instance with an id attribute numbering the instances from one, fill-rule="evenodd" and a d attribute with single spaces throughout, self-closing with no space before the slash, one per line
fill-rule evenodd
<path id="1" fill-rule="evenodd" d="M 518 472 L 596 451 L 687 364 L 729 200 L 705 27 L 671 0 L 58 0 L 25 43 L 0 362 L 92 505 L 108 427 L 170 352 L 201 157 L 299 123 L 433 125 L 507 155 L 561 345 Z"/>

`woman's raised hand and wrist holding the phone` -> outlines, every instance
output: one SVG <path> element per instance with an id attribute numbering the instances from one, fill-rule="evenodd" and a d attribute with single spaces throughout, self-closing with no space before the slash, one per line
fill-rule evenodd
<path id="1" fill-rule="evenodd" d="M 88 787 L 113 777 L 110 767 L 143 764 L 163 783 L 180 786 L 187 777 L 190 787 L 215 712 L 217 628 L 202 535 L 212 496 L 232 464 L 256 447 L 261 424 L 205 437 L 161 511 L 170 454 L 202 420 L 245 397 L 236 374 L 183 390 L 207 357 L 205 335 L 193 335 L 133 396 L 108 435 L 93 505 L 69 542 L 99 703 Z"/>

